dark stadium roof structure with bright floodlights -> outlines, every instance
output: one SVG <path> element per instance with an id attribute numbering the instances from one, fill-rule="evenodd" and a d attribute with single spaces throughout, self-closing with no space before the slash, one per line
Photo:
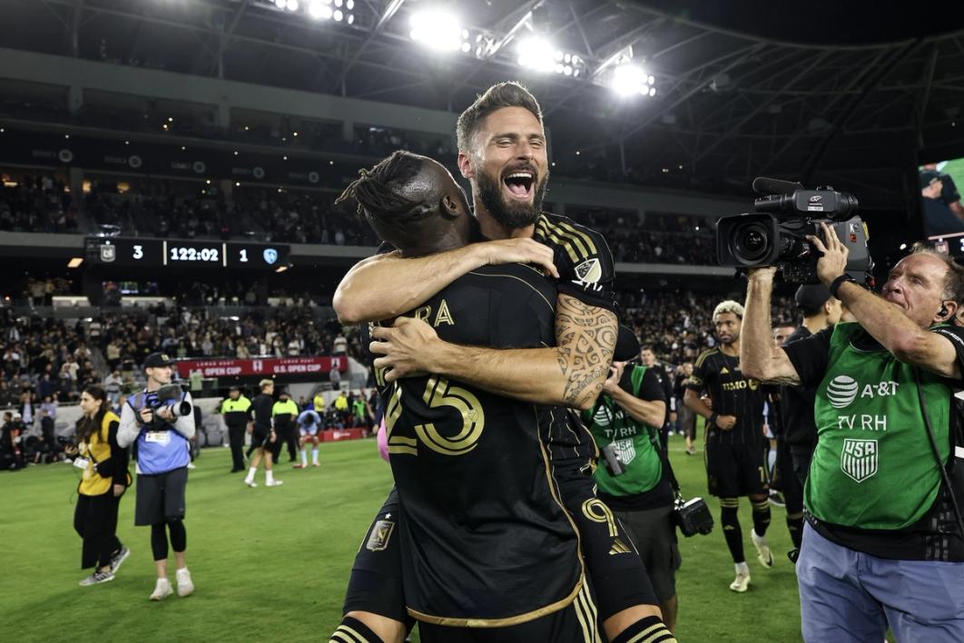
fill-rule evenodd
<path id="1" fill-rule="evenodd" d="M 411 34 L 427 0 L 5 4 L 2 46 L 269 86 L 457 112 L 518 79 L 543 105 L 555 158 L 604 157 L 682 188 L 748 190 L 773 175 L 902 209 L 917 195 L 916 150 L 964 146 L 964 20 L 953 11 L 473 0 L 447 4 L 468 51 L 440 54 Z M 556 73 L 561 60 L 520 66 L 519 45 L 535 36 L 568 54 L 571 72 Z M 607 86 L 630 60 L 655 95 L 621 99 Z"/>

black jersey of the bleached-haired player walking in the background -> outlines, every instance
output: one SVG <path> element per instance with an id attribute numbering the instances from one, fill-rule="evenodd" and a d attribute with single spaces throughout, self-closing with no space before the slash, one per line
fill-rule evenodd
<path id="1" fill-rule="evenodd" d="M 740 372 L 738 357 L 719 348 L 703 351 L 686 387 L 709 393 L 713 413 L 736 416 L 736 425 L 729 431 L 710 426 L 708 421 L 708 444 L 762 445 L 763 386 Z"/>

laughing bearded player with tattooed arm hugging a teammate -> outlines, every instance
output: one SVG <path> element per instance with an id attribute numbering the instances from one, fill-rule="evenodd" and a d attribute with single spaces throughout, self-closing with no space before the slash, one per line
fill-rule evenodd
<path id="1" fill-rule="evenodd" d="M 505 241 L 414 259 L 388 254 L 365 260 L 338 286 L 335 310 L 342 321 L 389 319 L 493 260 L 511 260 L 524 252 L 544 265 L 549 257 L 561 274 L 558 347 L 460 347 L 440 341 L 424 322 L 405 319 L 393 328 L 375 330 L 375 337 L 383 340 L 377 348 L 386 354 L 376 366 L 386 369 L 389 382 L 408 373 L 442 373 L 499 395 L 586 408 L 602 389 L 606 369 L 601 365 L 611 360 L 615 341 L 608 247 L 588 228 L 541 212 L 549 173 L 546 138 L 539 105 L 522 86 L 501 83 L 485 92 L 460 116 L 458 135 L 459 167 L 472 185 L 481 232 L 475 238 Z M 542 415 L 541 424 L 552 426 L 552 471 L 579 522 L 606 633 L 629 636 L 636 631 L 634 624 L 655 617 L 658 610 L 638 561 L 609 555 L 614 547 L 611 533 L 619 528 L 610 527 L 615 525 L 611 512 L 596 499 L 585 475 L 591 471 L 595 444 L 564 408 L 547 407 Z M 596 544 L 590 546 L 590 540 Z"/>

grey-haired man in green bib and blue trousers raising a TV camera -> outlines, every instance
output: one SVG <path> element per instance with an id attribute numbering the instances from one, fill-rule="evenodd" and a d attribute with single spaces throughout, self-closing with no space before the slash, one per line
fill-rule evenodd
<path id="1" fill-rule="evenodd" d="M 804 639 L 880 640 L 889 625 L 901 641 L 964 640 L 964 535 L 942 484 L 942 470 L 961 462 L 952 402 L 964 330 L 946 323 L 964 297 L 964 271 L 919 250 L 876 296 L 844 272 L 847 247 L 826 223 L 820 228 L 822 241 L 807 237 L 822 253 L 817 277 L 857 322 L 775 348 L 776 269 L 750 270 L 741 350 L 747 374 L 817 386 L 797 561 Z M 952 477 L 960 498 L 960 476 Z"/>

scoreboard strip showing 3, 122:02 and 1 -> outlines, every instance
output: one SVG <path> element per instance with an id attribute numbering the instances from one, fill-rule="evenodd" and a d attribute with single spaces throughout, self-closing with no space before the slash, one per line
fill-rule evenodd
<path id="1" fill-rule="evenodd" d="M 124 237 L 87 240 L 88 261 L 104 266 L 278 270 L 288 265 L 289 252 L 290 247 L 284 244 Z"/>

